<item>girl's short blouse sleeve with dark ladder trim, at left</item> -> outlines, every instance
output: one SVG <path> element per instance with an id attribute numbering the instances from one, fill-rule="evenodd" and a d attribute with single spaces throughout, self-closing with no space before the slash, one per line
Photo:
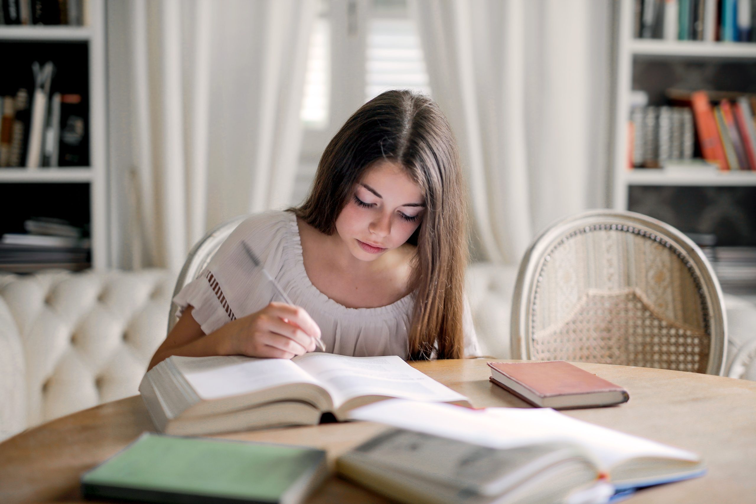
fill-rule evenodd
<path id="1" fill-rule="evenodd" d="M 272 298 L 271 287 L 261 281 L 259 268 L 254 267 L 243 244 L 259 256 L 267 271 L 277 274 L 286 221 L 283 212 L 265 212 L 239 224 L 199 277 L 173 298 L 178 317 L 191 305 L 192 317 L 209 334 L 267 305 Z"/>

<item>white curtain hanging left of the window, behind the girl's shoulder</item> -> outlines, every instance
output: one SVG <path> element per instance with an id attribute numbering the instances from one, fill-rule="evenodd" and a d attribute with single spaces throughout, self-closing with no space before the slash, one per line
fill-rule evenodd
<path id="1" fill-rule="evenodd" d="M 113 262 L 178 271 L 210 227 L 290 203 L 317 3 L 108 9 L 111 189 L 129 194 L 115 202 Z"/>

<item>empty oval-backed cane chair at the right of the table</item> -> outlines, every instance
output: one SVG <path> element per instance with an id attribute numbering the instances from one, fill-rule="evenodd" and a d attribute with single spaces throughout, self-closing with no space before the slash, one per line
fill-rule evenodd
<path id="1" fill-rule="evenodd" d="M 720 374 L 727 323 L 717 277 L 680 231 L 593 210 L 544 230 L 520 263 L 513 359 Z"/>

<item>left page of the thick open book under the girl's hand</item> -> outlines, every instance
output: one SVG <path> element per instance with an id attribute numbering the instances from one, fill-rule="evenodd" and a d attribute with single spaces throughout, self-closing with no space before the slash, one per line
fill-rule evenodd
<path id="1" fill-rule="evenodd" d="M 218 399 L 291 383 L 318 381 L 289 359 L 255 357 L 170 357 L 202 399 Z"/>

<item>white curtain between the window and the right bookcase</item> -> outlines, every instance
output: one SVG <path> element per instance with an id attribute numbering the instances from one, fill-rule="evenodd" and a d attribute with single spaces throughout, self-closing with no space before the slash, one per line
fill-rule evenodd
<path id="1" fill-rule="evenodd" d="M 610 2 L 416 0 L 430 86 L 460 144 L 479 259 L 606 206 Z"/>

